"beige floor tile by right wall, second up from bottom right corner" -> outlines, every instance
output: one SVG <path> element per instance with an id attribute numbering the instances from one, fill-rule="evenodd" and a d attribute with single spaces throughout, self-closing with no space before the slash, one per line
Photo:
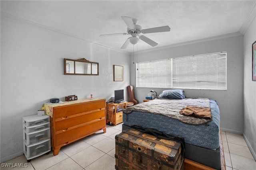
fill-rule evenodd
<path id="1" fill-rule="evenodd" d="M 241 146 L 241 145 L 236 145 L 236 144 L 233 144 L 233 143 L 228 143 L 228 148 L 229 148 L 230 154 L 231 153 L 232 154 L 237 154 L 237 155 L 240 155 L 240 156 L 244 156 L 246 158 L 253 159 L 252 153 L 250 152 L 248 147 L 244 147 L 244 146 Z"/>

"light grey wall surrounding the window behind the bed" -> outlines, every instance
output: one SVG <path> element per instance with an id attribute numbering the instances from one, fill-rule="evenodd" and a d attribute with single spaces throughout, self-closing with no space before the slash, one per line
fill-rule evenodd
<path id="1" fill-rule="evenodd" d="M 204 97 L 216 100 L 220 107 L 220 126 L 223 131 L 242 134 L 244 126 L 243 102 L 243 36 L 234 34 L 209 41 L 198 41 L 176 45 L 168 49 L 138 53 L 138 62 L 170 59 L 227 51 L 227 90 L 190 90 L 184 89 L 187 97 Z M 130 58 L 131 85 L 134 86 L 136 99 L 143 102 L 150 88 L 136 88 L 136 64 Z M 135 61 L 137 58 L 135 56 Z M 157 68 L 156 68 L 157 69 Z M 159 95 L 162 90 L 152 89 Z"/>

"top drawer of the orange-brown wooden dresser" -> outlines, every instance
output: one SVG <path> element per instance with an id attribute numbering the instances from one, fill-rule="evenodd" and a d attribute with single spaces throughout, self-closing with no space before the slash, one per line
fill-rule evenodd
<path id="1" fill-rule="evenodd" d="M 55 118 L 66 117 L 69 115 L 74 115 L 77 113 L 83 113 L 87 111 L 93 111 L 101 109 L 105 109 L 106 100 L 94 101 L 94 102 L 86 102 L 85 104 L 74 104 L 68 107 L 55 107 L 54 108 L 54 116 Z"/>

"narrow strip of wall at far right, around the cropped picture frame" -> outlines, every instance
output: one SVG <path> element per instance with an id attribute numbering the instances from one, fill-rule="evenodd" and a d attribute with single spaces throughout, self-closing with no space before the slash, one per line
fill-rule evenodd
<path id="1" fill-rule="evenodd" d="M 256 41 L 256 6 L 244 34 L 244 139 L 256 160 L 256 81 L 252 81 L 252 43 Z"/>

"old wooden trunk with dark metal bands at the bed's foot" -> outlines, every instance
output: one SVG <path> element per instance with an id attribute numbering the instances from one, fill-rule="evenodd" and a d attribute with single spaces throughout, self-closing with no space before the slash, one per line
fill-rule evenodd
<path id="1" fill-rule="evenodd" d="M 116 135 L 116 170 L 183 170 L 181 144 L 132 128 Z"/>

